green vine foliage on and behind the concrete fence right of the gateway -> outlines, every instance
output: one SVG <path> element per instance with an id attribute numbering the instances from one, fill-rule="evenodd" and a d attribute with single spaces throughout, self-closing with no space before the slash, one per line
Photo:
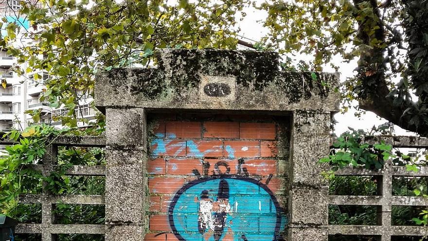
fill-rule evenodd
<path id="1" fill-rule="evenodd" d="M 410 157 L 409 155 L 403 154 L 400 150 L 394 150 L 392 145 L 385 144 L 381 142 L 380 144 L 371 145 L 364 142 L 362 136 L 366 136 L 366 132 L 363 130 L 352 130 L 352 132 L 345 132 L 340 135 L 336 141 L 333 143 L 333 148 L 330 151 L 330 154 L 326 157 L 323 157 L 319 160 L 319 163 L 329 164 L 331 169 L 329 171 L 323 172 L 323 175 L 326 179 L 329 179 L 331 182 L 330 189 L 333 189 L 335 192 L 340 192 L 338 184 L 346 183 L 345 186 L 353 185 L 355 186 L 355 181 L 357 180 L 358 188 L 361 189 L 361 186 L 366 186 L 363 188 L 363 191 L 367 191 L 367 186 L 372 190 L 370 195 L 375 195 L 373 192 L 373 185 L 371 182 L 363 181 L 361 177 L 350 178 L 348 180 L 341 178 L 340 176 L 336 177 L 335 172 L 343 167 L 361 167 L 369 170 L 380 170 L 384 167 L 387 161 L 392 161 L 396 166 L 406 166 L 408 171 L 418 171 L 420 165 L 426 165 L 427 156 L 425 156 L 425 161 L 420 159 L 420 156 Z M 357 179 L 356 179 L 357 178 Z M 372 181 L 377 181 L 375 177 L 372 178 Z M 392 184 L 393 185 L 393 184 Z M 414 196 L 421 196 L 428 198 L 424 189 L 427 188 L 425 185 L 418 184 L 414 186 L 413 190 Z M 394 189 L 400 189 L 400 187 L 394 187 Z M 353 195 L 362 195 L 361 193 L 354 193 Z M 339 206 L 329 207 L 329 219 L 334 221 L 334 224 L 361 224 L 366 223 L 367 217 L 372 215 L 370 206 L 362 206 L 359 210 L 363 212 L 354 217 L 349 217 L 346 212 L 355 212 L 357 211 L 355 207 L 341 207 L 344 210 L 341 210 Z M 399 206 L 395 210 L 397 213 L 402 213 L 403 216 L 411 213 L 411 210 L 406 206 Z M 374 212 L 376 213 L 376 212 Z M 395 215 L 397 216 L 397 215 Z M 403 217 L 395 217 L 397 220 L 402 219 Z M 427 208 L 421 209 L 418 213 L 418 217 L 410 218 L 412 222 L 416 225 L 427 225 L 428 224 L 428 210 Z M 370 220 L 370 219 L 369 219 Z M 352 222 L 352 223 L 345 223 Z M 400 221 L 398 221 L 400 222 Z M 375 225 L 375 224 L 374 224 Z"/>

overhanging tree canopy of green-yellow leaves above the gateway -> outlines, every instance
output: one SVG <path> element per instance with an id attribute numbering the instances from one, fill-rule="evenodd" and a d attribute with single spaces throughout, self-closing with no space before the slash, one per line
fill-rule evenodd
<path id="1" fill-rule="evenodd" d="M 19 26 L 8 24 L 8 36 L 0 43 L 20 63 L 28 63 L 19 73 L 42 69 L 55 76 L 42 98 L 68 107 L 71 115 L 63 123 L 73 126 L 77 90 L 90 92 L 94 74 L 130 64 L 148 66 L 158 48 L 235 48 L 237 18 L 245 16 L 251 2 L 22 2 L 20 14 L 34 28 L 26 37 L 36 42 L 13 47 Z M 310 67 L 315 71 L 337 55 L 359 58 L 357 75 L 343 89 L 344 100 L 357 99 L 360 108 L 428 135 L 426 0 L 273 0 L 259 8 L 268 13 L 266 42 L 272 49 L 314 56 Z"/>

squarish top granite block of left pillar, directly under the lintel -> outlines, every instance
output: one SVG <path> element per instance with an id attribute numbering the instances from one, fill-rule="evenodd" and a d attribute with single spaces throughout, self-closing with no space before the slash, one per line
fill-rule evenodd
<path id="1" fill-rule="evenodd" d="M 107 147 L 146 150 L 143 109 L 107 109 L 106 116 Z"/>

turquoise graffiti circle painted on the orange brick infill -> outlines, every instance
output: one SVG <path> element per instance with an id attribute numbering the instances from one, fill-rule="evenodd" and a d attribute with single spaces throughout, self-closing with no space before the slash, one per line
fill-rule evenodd
<path id="1" fill-rule="evenodd" d="M 209 227 L 202 231 L 198 223 L 199 200 L 201 195 L 217 200 L 219 185 L 225 182 L 231 211 L 226 215 L 221 236 L 214 238 Z M 215 215 L 218 216 L 213 212 Z M 277 199 L 266 185 L 235 175 L 194 180 L 178 190 L 169 207 L 169 224 L 180 241 L 222 241 L 231 235 L 235 241 L 277 241 L 285 222 Z"/>

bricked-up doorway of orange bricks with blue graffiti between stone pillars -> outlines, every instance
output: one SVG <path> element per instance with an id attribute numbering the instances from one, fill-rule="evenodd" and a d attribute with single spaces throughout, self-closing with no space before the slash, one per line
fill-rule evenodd
<path id="1" fill-rule="evenodd" d="M 287 117 L 149 117 L 145 241 L 283 239 Z"/>

